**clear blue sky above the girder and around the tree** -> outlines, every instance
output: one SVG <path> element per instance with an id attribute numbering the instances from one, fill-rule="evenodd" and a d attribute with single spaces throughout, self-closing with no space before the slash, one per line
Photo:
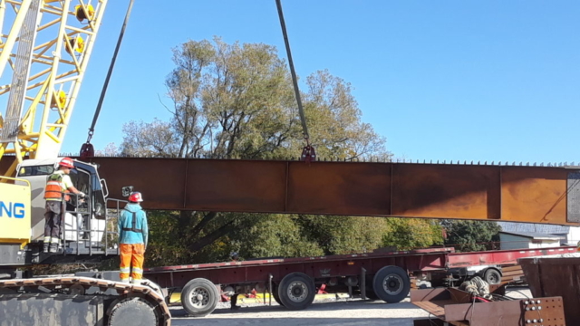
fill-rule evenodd
<path id="1" fill-rule="evenodd" d="M 130 120 L 169 119 L 160 104 L 171 48 L 214 35 L 275 45 L 275 0 L 138 0 L 93 144 L 121 144 Z M 63 152 L 91 125 L 129 0 L 109 1 Z M 302 78 L 351 82 L 396 158 L 580 162 L 580 2 L 283 0 Z M 298 153 L 297 153 L 298 154 Z"/>

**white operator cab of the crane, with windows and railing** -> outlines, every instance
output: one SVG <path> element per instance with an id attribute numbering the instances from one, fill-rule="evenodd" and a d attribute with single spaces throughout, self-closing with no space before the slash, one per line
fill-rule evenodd
<path id="1" fill-rule="evenodd" d="M 32 243 L 40 243 L 43 240 L 44 189 L 47 178 L 58 168 L 60 160 L 61 158 L 28 159 L 17 168 L 16 178 L 30 183 Z M 103 254 L 118 254 L 112 223 L 109 223 L 111 232 L 107 232 L 106 229 L 108 222 L 113 221 L 110 221 L 111 216 L 107 216 L 108 190 L 105 180 L 99 178 L 95 164 L 73 160 L 73 165 L 69 177 L 73 186 L 86 196 L 66 194 L 68 195 L 65 203 L 66 213 L 61 225 L 61 241 L 56 254 L 70 257 L 63 261 L 63 258 L 50 257 L 55 254 L 39 253 L 38 261 L 33 260 L 33 263 L 44 263 L 48 258 L 51 258 L 53 263 L 88 262 L 98 260 Z M 83 260 L 82 256 L 91 256 L 92 259 Z"/>

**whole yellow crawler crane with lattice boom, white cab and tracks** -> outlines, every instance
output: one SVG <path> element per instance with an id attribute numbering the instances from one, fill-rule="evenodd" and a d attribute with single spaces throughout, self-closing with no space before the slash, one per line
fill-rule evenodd
<path id="1" fill-rule="evenodd" d="M 63 196 L 60 213 L 44 217 L 46 180 L 60 160 L 106 5 L 107 0 L 0 0 L 0 159 L 17 158 L 0 175 L 0 315 L 8 324 L 170 324 L 166 299 L 154 283 L 123 283 L 118 272 L 35 276 L 30 268 L 98 263 L 120 254 L 115 221 L 123 201 L 108 197 L 92 163 L 72 160 L 69 177 L 82 196 Z M 107 79 L 111 69 L 112 63 Z M 102 97 L 104 90 L 106 83 Z M 58 235 L 49 237 L 57 245 L 51 251 L 43 250 L 47 223 L 58 225 Z M 44 292 L 34 307 L 27 300 L 5 304 L 13 302 L 14 292 L 39 293 L 49 283 L 54 291 Z"/>

